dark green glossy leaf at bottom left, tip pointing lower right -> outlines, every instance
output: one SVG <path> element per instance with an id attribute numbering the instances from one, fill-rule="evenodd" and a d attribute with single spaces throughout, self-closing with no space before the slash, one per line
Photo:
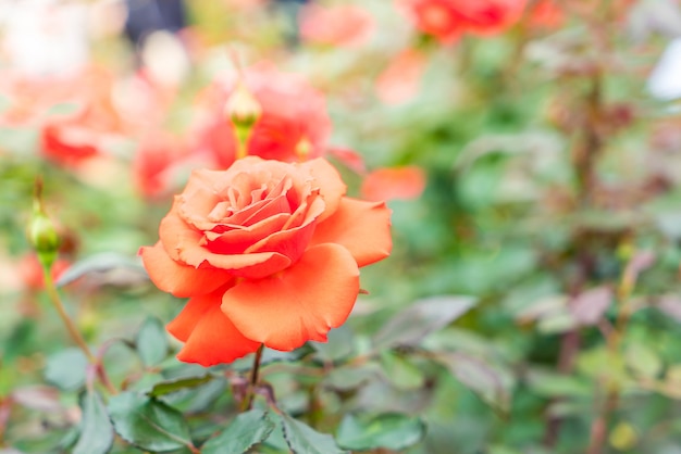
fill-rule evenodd
<path id="1" fill-rule="evenodd" d="M 182 414 L 144 394 L 124 392 L 112 396 L 109 414 L 116 432 L 143 450 L 162 452 L 193 446 Z"/>

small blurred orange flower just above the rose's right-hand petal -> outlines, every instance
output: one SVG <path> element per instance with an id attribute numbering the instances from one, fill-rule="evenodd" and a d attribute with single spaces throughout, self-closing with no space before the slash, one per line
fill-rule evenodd
<path id="1" fill-rule="evenodd" d="M 412 200 L 425 189 L 425 173 L 414 165 L 379 168 L 364 177 L 361 193 L 368 200 Z"/>

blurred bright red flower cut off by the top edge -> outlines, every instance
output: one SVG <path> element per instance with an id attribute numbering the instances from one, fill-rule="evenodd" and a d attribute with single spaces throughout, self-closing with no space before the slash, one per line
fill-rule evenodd
<path id="1" fill-rule="evenodd" d="M 404 0 L 403 3 L 417 28 L 449 43 L 465 33 L 504 31 L 520 20 L 527 0 Z"/>

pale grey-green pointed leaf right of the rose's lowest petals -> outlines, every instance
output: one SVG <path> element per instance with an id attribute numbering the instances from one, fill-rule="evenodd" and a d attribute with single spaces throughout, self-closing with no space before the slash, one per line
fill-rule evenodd
<path id="1" fill-rule="evenodd" d="M 475 304 L 473 297 L 441 295 L 417 301 L 393 317 L 375 336 L 376 346 L 417 345 L 425 336 L 444 328 Z"/>

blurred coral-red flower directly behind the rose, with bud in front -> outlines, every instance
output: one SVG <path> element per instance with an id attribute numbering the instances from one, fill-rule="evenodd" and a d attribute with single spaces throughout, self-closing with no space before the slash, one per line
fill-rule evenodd
<path id="1" fill-rule="evenodd" d="M 216 81 L 199 100 L 197 148 L 208 152 L 219 168 L 227 168 L 235 160 L 236 136 L 224 109 L 236 84 L 236 77 Z M 261 64 L 245 72 L 244 85 L 262 108 L 247 154 L 299 162 L 323 153 L 331 119 L 324 98 L 306 80 Z"/>

